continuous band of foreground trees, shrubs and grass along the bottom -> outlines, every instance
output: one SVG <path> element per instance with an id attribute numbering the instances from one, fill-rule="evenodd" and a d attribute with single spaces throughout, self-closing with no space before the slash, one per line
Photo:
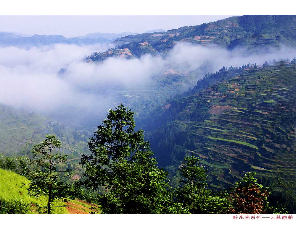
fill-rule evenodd
<path id="1" fill-rule="evenodd" d="M 0 183 L 0 212 L 1 213 L 52 213 L 52 202 L 60 202 L 58 207 L 67 206 L 65 213 L 242 213 L 259 214 L 263 212 L 277 212 L 284 209 L 273 209 L 267 203 L 268 192 L 256 183 L 253 174 L 245 175 L 238 181 L 230 192 L 221 190 L 214 192 L 208 188 L 206 170 L 200 164 L 200 159 L 186 156 L 179 167 L 179 186 L 173 189 L 167 180 L 168 172 L 157 167 L 155 158 L 151 157 L 149 142 L 144 141 L 144 131 L 134 131 L 135 113 L 127 107 L 118 105 L 115 110 L 110 109 L 107 118 L 98 126 L 94 137 L 90 139 L 91 155 L 83 155 L 81 164 L 85 167 L 84 179 L 73 184 L 59 180 L 62 165 L 66 156 L 59 151 L 62 142 L 56 136 L 48 135 L 46 139 L 33 147 L 31 164 L 34 170 L 27 167 L 25 159 L 19 158 L 16 164 L 12 158 L 0 160 L 0 176 L 4 178 Z M 39 157 L 36 157 L 40 155 Z M 211 158 L 211 157 L 210 157 Z M 57 169 L 59 168 L 59 169 Z M 11 170 L 25 174 L 25 177 L 15 174 Z M 10 175 L 7 175 L 7 172 Z M 64 171 L 68 172 L 68 170 Z M 255 175 L 255 174 L 254 174 Z M 66 174 L 67 176 L 67 174 Z M 11 186 L 16 179 L 16 188 Z M 22 182 L 25 180 L 26 183 Z M 10 183 L 10 184 L 8 184 Z M 23 183 L 20 186 L 19 183 Z M 25 188 L 25 186 L 28 188 Z M 2 188 L 3 186 L 3 188 Z M 83 191 L 91 189 L 92 194 Z M 21 190 L 28 191 L 27 196 Z M 7 190 L 10 196 L 7 195 Z M 16 195 L 18 191 L 19 195 Z M 250 196 L 250 194 L 252 195 Z M 84 194 L 84 195 L 83 195 Z M 88 195 L 87 195 L 88 194 Z M 38 203 L 31 202 L 31 196 L 38 197 Z M 89 196 L 90 195 L 90 196 Z M 85 204 L 74 199 L 84 196 L 89 201 L 100 204 Z M 65 200 L 71 197 L 72 200 Z M 45 206 L 40 204 L 40 199 Z M 64 202 L 66 202 L 64 204 Z M 254 204 L 255 205 L 254 208 Z M 91 207 L 90 207 L 91 205 Z M 80 208 L 78 212 L 77 208 Z M 96 211 L 93 211 L 96 209 Z"/>

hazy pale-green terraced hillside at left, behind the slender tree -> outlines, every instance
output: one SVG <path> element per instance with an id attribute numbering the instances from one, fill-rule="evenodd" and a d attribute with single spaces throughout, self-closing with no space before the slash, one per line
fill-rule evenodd
<path id="1" fill-rule="evenodd" d="M 46 134 L 57 135 L 63 142 L 62 152 L 75 158 L 87 151 L 91 130 L 65 126 L 47 116 L 0 104 L 0 153 L 30 155 L 31 147 L 42 141 Z"/>

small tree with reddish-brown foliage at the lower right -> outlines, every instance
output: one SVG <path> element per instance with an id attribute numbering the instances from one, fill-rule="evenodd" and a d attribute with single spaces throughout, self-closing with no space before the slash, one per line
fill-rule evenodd
<path id="1" fill-rule="evenodd" d="M 231 188 L 234 198 L 234 213 L 237 214 L 262 214 L 268 209 L 267 198 L 269 192 L 256 183 L 256 173 L 249 172 Z"/>

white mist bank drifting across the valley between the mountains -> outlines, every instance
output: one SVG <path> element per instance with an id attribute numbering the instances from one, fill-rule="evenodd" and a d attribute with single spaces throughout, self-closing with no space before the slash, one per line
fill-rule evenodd
<path id="1" fill-rule="evenodd" d="M 124 103 L 119 91 L 124 93 L 125 89 L 155 86 L 157 77 L 163 77 L 169 69 L 180 73 L 194 72 L 194 82 L 180 87 L 179 92 L 184 92 L 205 73 L 215 72 L 222 66 L 291 60 L 296 54 L 295 49 L 284 47 L 249 54 L 238 48 L 228 51 L 216 46 L 177 43 L 165 57 L 112 57 L 98 64 L 83 60 L 92 51 L 103 52 L 110 47 L 112 45 L 105 44 L 54 45 L 29 50 L 0 48 L 0 103 L 76 123 L 98 116 L 99 123 L 108 109 Z M 61 68 L 65 69 L 62 74 L 59 73 Z M 157 90 L 151 93 L 151 97 L 155 94 Z"/>

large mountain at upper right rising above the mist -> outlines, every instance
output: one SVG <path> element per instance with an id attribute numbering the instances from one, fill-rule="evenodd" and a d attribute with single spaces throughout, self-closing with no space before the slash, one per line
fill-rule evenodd
<path id="1" fill-rule="evenodd" d="M 190 27 L 180 27 L 166 32 L 129 35 L 112 42 L 118 49 L 128 48 L 132 55 L 144 53 L 166 54 L 180 42 L 193 44 L 215 44 L 228 50 L 258 49 L 282 45 L 293 47 L 296 41 L 296 15 L 244 15 Z M 149 51 L 141 43 L 151 46 Z M 110 56 L 114 56 L 111 55 Z M 87 57 L 93 60 L 93 56 Z M 96 61 L 102 61 L 96 60 Z"/>

